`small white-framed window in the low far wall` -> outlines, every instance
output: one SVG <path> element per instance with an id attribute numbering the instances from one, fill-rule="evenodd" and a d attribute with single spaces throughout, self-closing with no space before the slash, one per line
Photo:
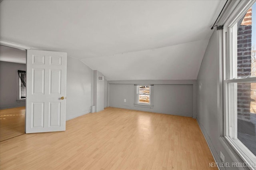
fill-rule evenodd
<path id="1" fill-rule="evenodd" d="M 151 85 L 137 85 L 136 104 L 151 105 Z"/>

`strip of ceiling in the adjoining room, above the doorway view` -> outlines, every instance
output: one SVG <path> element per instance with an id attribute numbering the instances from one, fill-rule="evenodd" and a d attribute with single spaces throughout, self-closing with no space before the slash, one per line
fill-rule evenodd
<path id="1" fill-rule="evenodd" d="M 26 51 L 0 45 L 0 61 L 26 64 Z"/>

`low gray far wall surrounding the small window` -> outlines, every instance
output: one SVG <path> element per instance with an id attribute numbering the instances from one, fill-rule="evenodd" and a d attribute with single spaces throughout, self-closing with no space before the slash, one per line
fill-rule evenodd
<path id="1" fill-rule="evenodd" d="M 153 108 L 134 106 L 134 82 L 125 84 L 109 81 L 109 106 L 170 115 L 193 116 L 193 85 L 192 84 L 157 84 L 152 81 Z M 161 83 L 158 81 L 158 83 Z M 124 102 L 126 99 L 126 102 Z"/>

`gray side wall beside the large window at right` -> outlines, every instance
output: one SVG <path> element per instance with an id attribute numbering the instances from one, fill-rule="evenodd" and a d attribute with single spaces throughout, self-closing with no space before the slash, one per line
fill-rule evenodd
<path id="1" fill-rule="evenodd" d="M 200 71 L 197 77 L 198 94 L 197 120 L 206 137 L 216 162 L 220 161 L 220 151 L 225 156 L 225 162 L 236 160 L 228 144 L 220 134 L 221 113 L 220 113 L 220 55 L 219 48 L 222 41 L 222 31 L 214 31 L 208 43 Z M 224 168 L 220 168 L 224 169 Z M 228 169 L 228 168 L 227 168 Z M 231 169 L 236 169 L 232 167 Z"/>

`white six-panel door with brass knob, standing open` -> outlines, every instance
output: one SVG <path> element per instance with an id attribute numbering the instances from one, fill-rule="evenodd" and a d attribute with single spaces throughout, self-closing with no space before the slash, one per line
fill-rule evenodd
<path id="1" fill-rule="evenodd" d="M 27 50 L 26 133 L 66 130 L 67 53 Z"/>

